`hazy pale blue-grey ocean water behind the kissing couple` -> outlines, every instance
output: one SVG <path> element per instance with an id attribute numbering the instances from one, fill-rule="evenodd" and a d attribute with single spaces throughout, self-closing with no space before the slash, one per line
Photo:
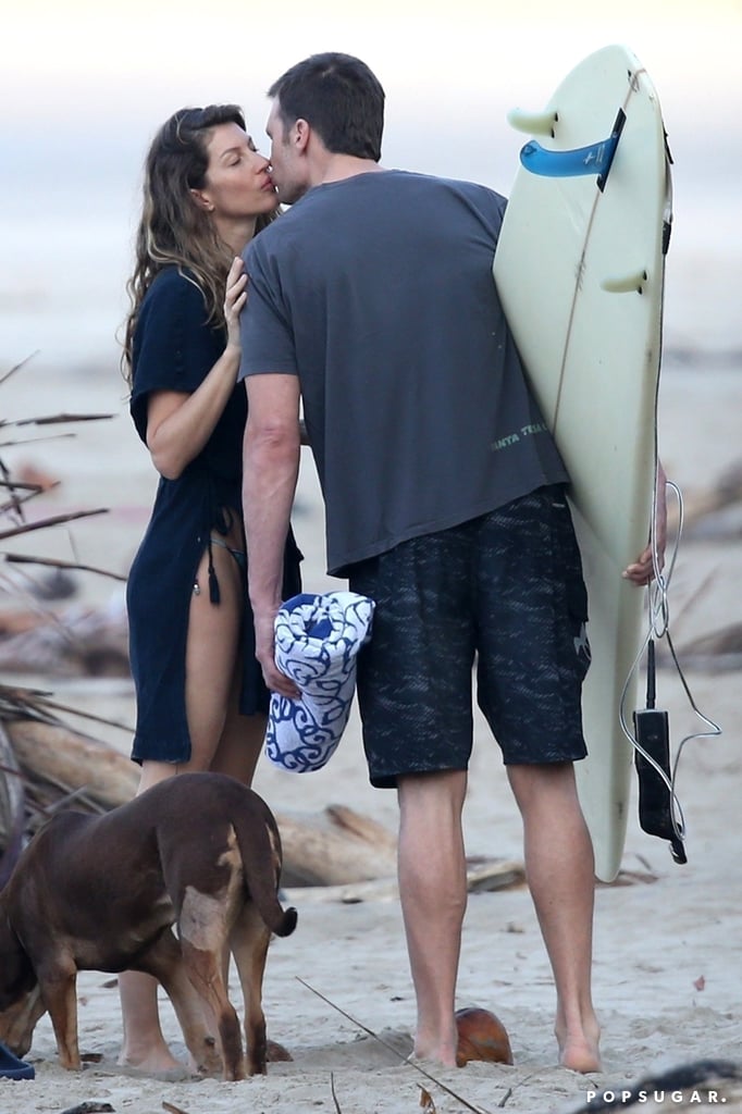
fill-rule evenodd
<path id="1" fill-rule="evenodd" d="M 392 118 L 382 163 L 470 178 L 507 194 L 523 136 L 497 115 L 485 144 L 472 143 L 470 131 L 457 134 L 446 118 L 437 121 L 446 136 L 439 144 L 414 115 Z M 696 139 L 692 121 L 680 123 L 675 143 L 671 131 L 675 214 L 666 344 L 684 352 L 742 350 L 739 152 L 723 136 L 712 144 L 712 133 Z M 13 123 L 7 131 L 0 375 L 37 351 L 37 367 L 116 363 L 147 130 L 135 114 L 116 135 L 102 137 L 71 120 L 38 137 Z"/>

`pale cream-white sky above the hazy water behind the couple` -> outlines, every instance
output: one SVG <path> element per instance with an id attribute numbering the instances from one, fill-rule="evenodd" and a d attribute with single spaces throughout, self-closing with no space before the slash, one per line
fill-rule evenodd
<path id="1" fill-rule="evenodd" d="M 742 90 L 742 0 L 519 0 L 511 9 L 498 0 L 285 0 L 273 9 L 254 0 L 25 0 L 3 17 L 3 116 L 11 134 L 95 121 L 102 130 L 90 143 L 104 148 L 121 128 L 128 147 L 136 128 L 141 147 L 180 104 L 226 99 L 262 131 L 264 90 L 280 72 L 316 50 L 345 50 L 387 89 L 394 155 L 411 146 L 410 157 L 436 166 L 451 156 L 482 165 L 484 152 L 471 149 L 487 140 L 477 124 L 502 139 L 514 98 L 547 98 L 584 55 L 619 41 L 683 133 L 731 119 Z M 422 135 L 409 135 L 411 120 Z"/>

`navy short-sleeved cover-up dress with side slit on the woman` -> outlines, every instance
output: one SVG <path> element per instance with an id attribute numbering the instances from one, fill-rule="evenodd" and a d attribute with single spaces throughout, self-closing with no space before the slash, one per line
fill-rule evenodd
<path id="1" fill-rule="evenodd" d="M 187 391 L 203 382 L 224 352 L 222 328 L 206 320 L 201 290 L 175 266 L 147 291 L 134 336 L 130 412 L 146 443 L 147 400 L 153 391 Z M 247 417 L 238 383 L 203 451 L 176 480 L 160 477 L 152 518 L 134 558 L 127 585 L 129 659 L 136 688 L 136 762 L 187 762 L 191 737 L 185 707 L 188 610 L 198 564 L 212 531 L 228 529 L 224 509 L 242 520 L 242 442 Z M 286 540 L 284 599 L 301 592 L 293 534 Z M 209 563 L 211 564 L 211 563 Z M 243 582 L 244 583 L 244 582 Z M 218 582 L 208 590 L 218 604 Z M 267 712 L 270 694 L 255 659 L 253 615 L 244 586 L 243 676 L 240 711 Z"/>

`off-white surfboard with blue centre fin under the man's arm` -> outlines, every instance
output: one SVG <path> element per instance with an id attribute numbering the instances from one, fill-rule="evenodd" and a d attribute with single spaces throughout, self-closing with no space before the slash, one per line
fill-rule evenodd
<path id="1" fill-rule="evenodd" d="M 625 847 L 646 594 L 622 578 L 646 546 L 656 467 L 664 265 L 672 222 L 660 102 L 635 55 L 580 61 L 546 108 L 514 110 L 520 153 L 494 276 L 527 375 L 570 477 L 588 589 L 588 758 L 576 763 L 596 873 Z M 623 700 L 623 704 L 622 704 Z"/>

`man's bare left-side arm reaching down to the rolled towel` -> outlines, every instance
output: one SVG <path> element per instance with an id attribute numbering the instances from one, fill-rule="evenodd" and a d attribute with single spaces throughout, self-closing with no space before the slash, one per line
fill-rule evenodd
<path id="1" fill-rule="evenodd" d="M 299 690 L 275 665 L 273 622 L 282 603 L 283 553 L 299 476 L 299 379 L 250 375 L 244 439 L 243 511 L 255 656 L 272 691 Z"/>

